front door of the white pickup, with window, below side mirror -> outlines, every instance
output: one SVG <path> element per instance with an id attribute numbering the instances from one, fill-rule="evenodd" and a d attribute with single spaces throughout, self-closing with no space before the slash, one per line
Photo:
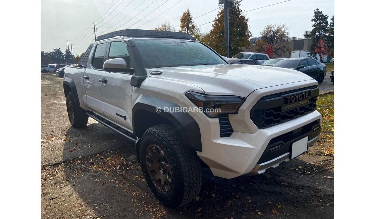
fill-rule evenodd
<path id="1" fill-rule="evenodd" d="M 108 59 L 122 58 L 126 61 L 127 72 L 103 72 L 102 79 L 107 83 L 100 83 L 103 98 L 103 113 L 107 119 L 121 125 L 132 132 L 132 102 L 133 86 L 130 79 L 134 72 L 130 61 L 128 46 L 123 40 L 109 43 Z"/>

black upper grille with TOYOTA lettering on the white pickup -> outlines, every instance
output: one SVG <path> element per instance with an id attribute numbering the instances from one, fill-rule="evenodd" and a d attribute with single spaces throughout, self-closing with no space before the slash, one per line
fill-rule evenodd
<path id="1" fill-rule="evenodd" d="M 308 93 L 308 98 L 303 100 L 306 102 L 284 109 L 284 107 L 289 106 L 285 104 L 287 97 L 306 92 Z M 317 95 L 317 86 L 311 86 L 262 97 L 255 106 L 253 106 L 250 118 L 259 129 L 289 121 L 314 111 L 316 109 Z"/>

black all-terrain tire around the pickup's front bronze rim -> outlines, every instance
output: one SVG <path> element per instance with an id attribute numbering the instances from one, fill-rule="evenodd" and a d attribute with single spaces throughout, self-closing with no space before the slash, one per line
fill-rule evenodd
<path id="1" fill-rule="evenodd" d="M 152 145 L 162 150 L 172 169 L 172 186 L 168 192 L 158 189 L 149 174 L 150 160 L 147 161 L 146 156 Z M 202 185 L 199 157 L 196 151 L 184 145 L 179 131 L 173 125 L 156 125 L 145 131 L 141 138 L 140 160 L 145 180 L 162 204 L 171 208 L 181 207 L 199 194 Z"/>

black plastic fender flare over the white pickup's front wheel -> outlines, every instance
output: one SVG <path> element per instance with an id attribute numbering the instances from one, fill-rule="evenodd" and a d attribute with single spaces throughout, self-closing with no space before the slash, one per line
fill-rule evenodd
<path id="1" fill-rule="evenodd" d="M 156 107 L 160 107 L 162 109 L 161 112 L 156 112 Z M 137 124 L 135 122 L 135 116 L 136 112 L 139 112 L 138 110 L 145 110 L 150 113 L 162 116 L 163 118 L 170 121 L 179 130 L 185 145 L 202 152 L 201 132 L 199 124 L 197 124 L 193 117 L 189 115 L 189 113 L 187 112 L 164 112 L 164 107 L 180 106 L 170 101 L 163 100 L 161 98 L 146 95 L 141 96 L 132 109 L 133 134 L 135 134 L 136 137 L 141 139 L 143 131 L 145 130 L 141 127 L 142 124 Z M 136 150 L 138 151 L 138 148 L 136 148 Z"/>

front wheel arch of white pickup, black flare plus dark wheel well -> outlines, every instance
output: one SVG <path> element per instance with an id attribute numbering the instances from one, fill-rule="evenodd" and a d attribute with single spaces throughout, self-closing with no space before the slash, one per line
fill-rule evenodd
<path id="1" fill-rule="evenodd" d="M 156 112 L 160 107 L 162 112 Z M 141 96 L 132 109 L 133 134 L 141 139 L 144 132 L 155 125 L 172 124 L 181 134 L 185 145 L 202 151 L 200 127 L 191 115 L 184 112 L 163 112 L 164 107 L 179 107 L 161 98 Z M 139 143 L 139 141 L 138 141 Z M 136 143 L 136 152 L 139 153 L 139 144 Z"/>

